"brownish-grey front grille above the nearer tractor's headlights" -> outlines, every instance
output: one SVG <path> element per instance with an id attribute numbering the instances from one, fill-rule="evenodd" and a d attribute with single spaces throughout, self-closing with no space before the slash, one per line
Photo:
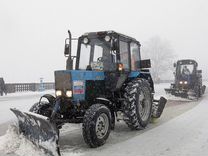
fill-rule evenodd
<path id="1" fill-rule="evenodd" d="M 65 71 L 55 71 L 55 89 L 56 90 L 71 90 L 71 73 Z"/>

